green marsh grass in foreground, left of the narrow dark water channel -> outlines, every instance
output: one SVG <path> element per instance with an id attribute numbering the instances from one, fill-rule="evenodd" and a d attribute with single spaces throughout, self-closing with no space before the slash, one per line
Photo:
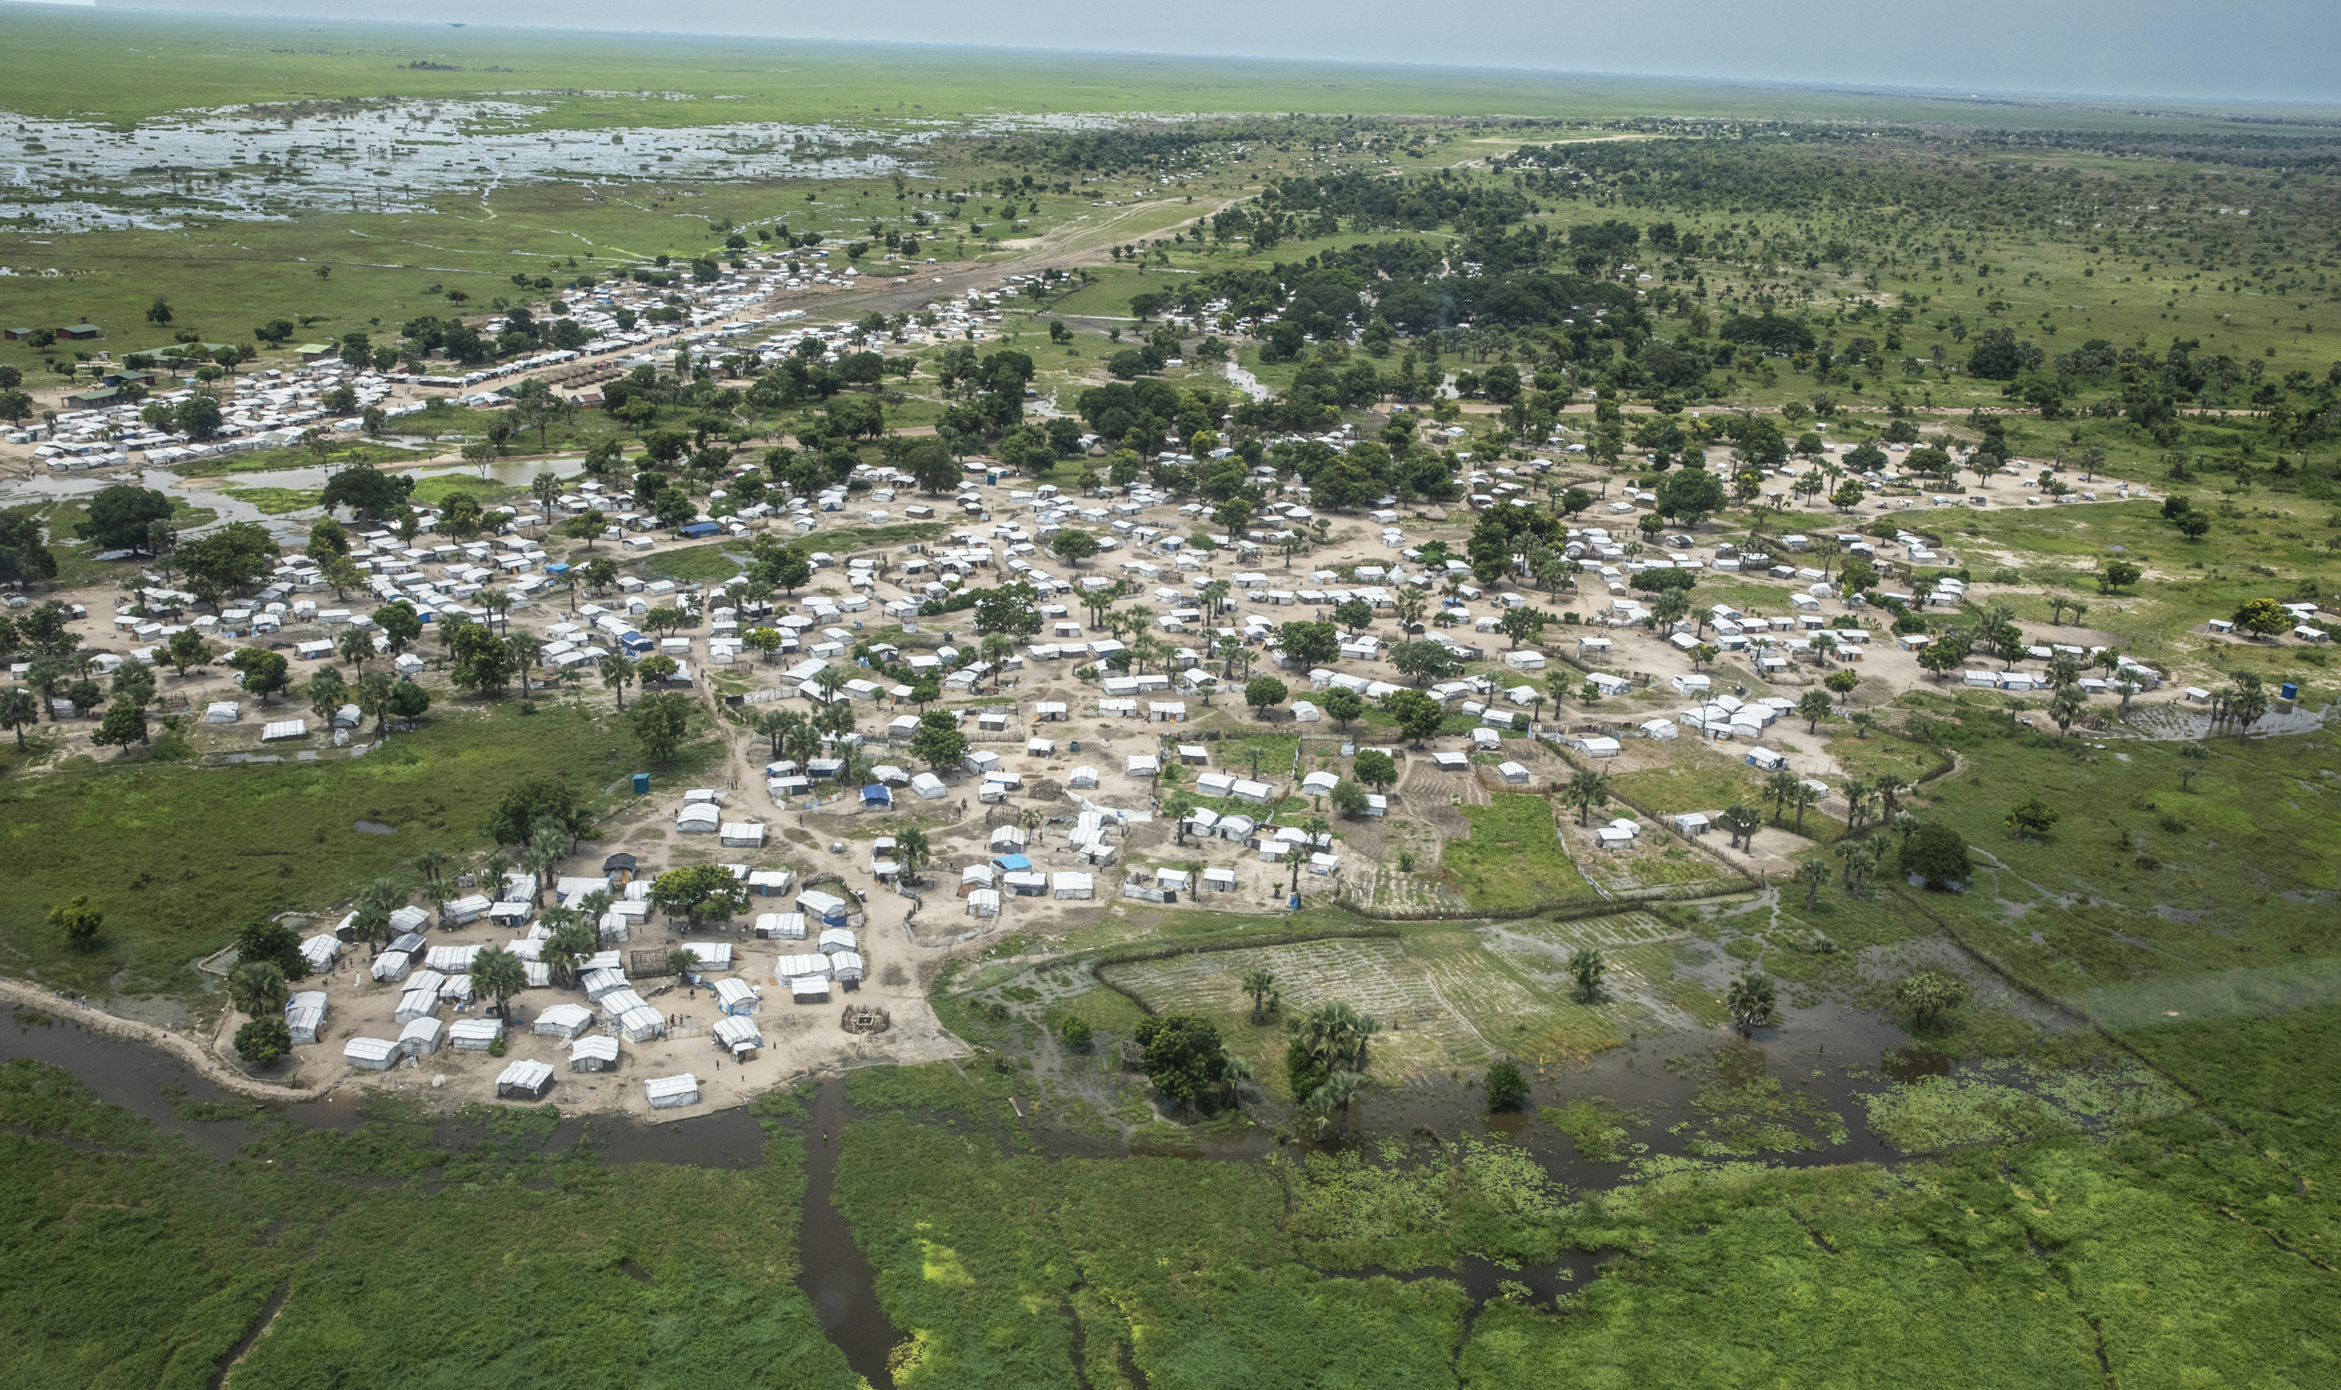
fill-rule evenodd
<path id="1" fill-rule="evenodd" d="M 16 1268 L 0 1376 L 199 1388 L 248 1348 L 239 1385 L 353 1364 L 485 1385 L 541 1385 L 550 1367 L 576 1385 L 857 1381 L 794 1282 L 794 1133 L 768 1126 L 742 1172 L 604 1168 L 550 1144 L 552 1107 L 475 1107 L 459 1147 L 428 1116 L 368 1112 L 346 1137 L 276 1121 L 255 1158 L 215 1163 L 61 1072 L 0 1067 L 0 1116 L 47 1135 L 0 1137 Z M 424 1172 L 442 1182 L 407 1182 Z M 63 1289 L 122 1306 L 91 1320 Z"/>

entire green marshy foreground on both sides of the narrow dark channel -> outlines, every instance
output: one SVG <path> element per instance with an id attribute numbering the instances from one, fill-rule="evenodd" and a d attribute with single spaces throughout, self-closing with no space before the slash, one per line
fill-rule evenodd
<path id="1" fill-rule="evenodd" d="M 2240 1051 L 2226 1088 L 2287 1083 L 2289 1060 Z M 2327 1203 L 2219 1168 L 2240 1147 L 2196 1114 L 1894 1170 L 1646 1163 L 1568 1193 L 1480 1140 L 1051 1161 L 1016 1088 L 948 1065 L 850 1086 L 838 1203 L 878 1264 L 904 1383 L 2308 1385 L 2332 1367 L 2341 1294 L 2268 1238 L 2294 1247 L 2287 1207 Z M 279 1289 L 239 1381 L 314 1383 L 356 1348 L 492 1385 L 548 1364 L 583 1385 L 651 1364 L 850 1383 L 789 1282 L 801 1142 L 780 1126 L 744 1172 L 604 1168 L 552 1149 L 538 1112 L 459 1149 L 377 1112 L 346 1140 L 279 1135 L 255 1149 L 276 1163 L 222 1165 L 23 1062 L 0 1072 L 0 1116 L 30 1130 L 0 1140 L 16 1383 L 208 1381 Z M 396 1182 L 435 1170 L 466 1182 Z M 1615 1259 L 1557 1303 L 1503 1294 L 1477 1317 L 1449 1278 L 1365 1268 L 1561 1252 Z M 49 1296 L 66 1285 L 110 1289 L 124 1315 L 75 1317 Z"/>

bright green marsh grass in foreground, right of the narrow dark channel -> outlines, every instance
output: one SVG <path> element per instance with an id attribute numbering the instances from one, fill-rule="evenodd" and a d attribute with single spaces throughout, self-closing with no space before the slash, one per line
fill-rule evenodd
<path id="1" fill-rule="evenodd" d="M 2212 1128 L 2196 1116 L 1892 1172 L 1650 1163 L 1561 1193 L 1477 1142 L 1051 1163 L 1014 1151 L 1018 1083 L 925 1072 L 857 1079 L 866 1119 L 840 1163 L 920 1383 L 1131 1383 L 1112 1374 L 1124 1346 L 1149 1381 L 1185 1385 L 1257 1383 L 1283 1357 L 1355 1385 L 2098 1385 L 2107 1369 L 2313 1383 L 2329 1369 L 2315 1327 L 2341 1292 L 2306 1259 L 2268 1257 L 2259 1219 L 2215 1210 L 2222 1175 L 2203 1168 Z M 1451 1282 L 1325 1278 L 1561 1250 L 1620 1257 L 1559 1303 L 1501 1296 L 1468 1331 Z"/>

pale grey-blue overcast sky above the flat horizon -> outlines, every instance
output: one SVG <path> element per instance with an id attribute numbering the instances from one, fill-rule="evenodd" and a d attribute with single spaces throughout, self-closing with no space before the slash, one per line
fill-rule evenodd
<path id="1" fill-rule="evenodd" d="M 108 0 L 112 5 L 112 0 Z M 1243 54 L 2126 96 L 2341 98 L 2341 0 L 143 0 L 143 9 Z"/>

